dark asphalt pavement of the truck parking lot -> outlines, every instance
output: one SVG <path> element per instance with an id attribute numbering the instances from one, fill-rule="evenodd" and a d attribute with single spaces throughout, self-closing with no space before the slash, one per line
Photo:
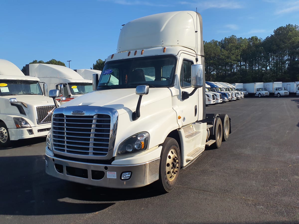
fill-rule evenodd
<path id="1" fill-rule="evenodd" d="M 299 97 L 211 105 L 232 133 L 176 188 L 118 190 L 45 174 L 45 137 L 0 150 L 0 223 L 299 223 Z"/>

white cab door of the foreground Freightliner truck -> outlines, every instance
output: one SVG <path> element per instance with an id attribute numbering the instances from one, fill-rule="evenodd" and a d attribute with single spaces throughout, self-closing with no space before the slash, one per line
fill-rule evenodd
<path id="1" fill-rule="evenodd" d="M 182 99 L 182 92 L 191 93 L 194 88 L 191 87 L 191 65 L 194 57 L 181 53 L 178 66 L 178 75 L 179 75 L 179 85 L 180 85 L 180 94 L 179 94 L 179 103 L 178 107 L 181 112 L 181 124 L 188 125 L 197 121 L 199 113 L 199 103 L 198 103 L 198 89 L 196 92 L 189 96 L 188 99 Z M 179 122 L 180 124 L 180 122 Z"/>

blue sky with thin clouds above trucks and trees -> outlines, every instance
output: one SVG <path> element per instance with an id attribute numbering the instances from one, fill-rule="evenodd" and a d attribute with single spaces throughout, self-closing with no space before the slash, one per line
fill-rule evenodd
<path id="1" fill-rule="evenodd" d="M 57 59 L 72 69 L 92 67 L 116 52 L 122 24 L 139 17 L 197 10 L 203 38 L 265 39 L 286 24 L 299 25 L 299 0 L 3 0 L 0 58 L 20 69 L 33 60 Z"/>

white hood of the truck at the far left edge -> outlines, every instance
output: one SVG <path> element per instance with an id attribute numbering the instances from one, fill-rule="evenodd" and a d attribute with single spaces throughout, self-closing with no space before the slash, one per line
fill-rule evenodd
<path id="1" fill-rule="evenodd" d="M 43 105 L 54 105 L 52 98 L 48 96 L 40 95 L 17 95 L 17 96 L 0 96 L 2 99 L 16 98 L 19 102 L 24 102 L 26 104 L 43 106 Z"/>

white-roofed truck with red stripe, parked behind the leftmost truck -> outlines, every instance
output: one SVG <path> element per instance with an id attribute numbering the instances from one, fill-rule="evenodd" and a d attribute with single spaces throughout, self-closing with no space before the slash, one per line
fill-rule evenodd
<path id="1" fill-rule="evenodd" d="M 29 64 L 29 75 L 48 85 L 48 89 L 60 89 L 60 103 L 65 103 L 92 91 L 92 81 L 83 79 L 74 70 L 62 65 Z"/>

